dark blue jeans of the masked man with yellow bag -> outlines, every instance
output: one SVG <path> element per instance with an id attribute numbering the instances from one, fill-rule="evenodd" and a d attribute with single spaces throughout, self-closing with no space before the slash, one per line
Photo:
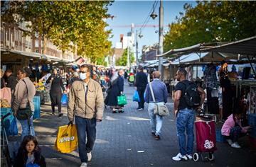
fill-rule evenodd
<path id="1" fill-rule="evenodd" d="M 78 130 L 79 157 L 82 163 L 87 163 L 87 153 L 92 151 L 92 147 L 96 139 L 96 118 L 87 119 L 84 117 L 75 116 L 75 125 L 77 126 Z"/>

